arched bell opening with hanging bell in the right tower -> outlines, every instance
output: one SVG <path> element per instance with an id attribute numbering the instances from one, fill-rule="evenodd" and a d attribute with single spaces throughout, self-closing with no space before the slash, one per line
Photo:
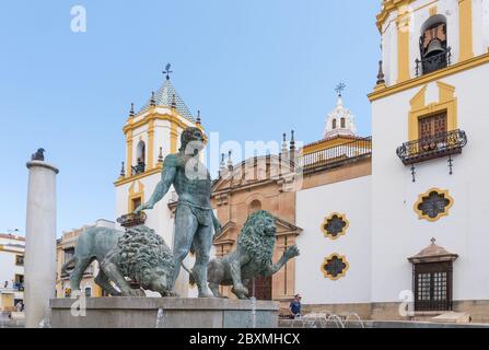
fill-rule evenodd
<path id="1" fill-rule="evenodd" d="M 417 74 L 428 74 L 450 65 L 446 18 L 436 14 L 428 19 L 421 27 L 419 38 L 421 60 L 417 60 Z"/>

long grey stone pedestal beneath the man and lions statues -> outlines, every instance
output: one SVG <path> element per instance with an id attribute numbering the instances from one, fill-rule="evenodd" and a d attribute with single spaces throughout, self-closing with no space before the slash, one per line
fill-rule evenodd
<path id="1" fill-rule="evenodd" d="M 223 299 L 86 299 L 86 316 L 74 317 L 74 300 L 54 299 L 55 328 L 277 328 L 278 302 Z"/>

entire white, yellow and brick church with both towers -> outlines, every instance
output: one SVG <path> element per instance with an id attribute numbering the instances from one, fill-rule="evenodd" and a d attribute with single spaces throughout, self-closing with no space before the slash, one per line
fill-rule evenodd
<path id="1" fill-rule="evenodd" d="M 277 218 L 275 259 L 293 244 L 301 256 L 251 281 L 257 298 L 287 306 L 301 293 L 306 312 L 364 319 L 456 311 L 489 322 L 489 1 L 384 0 L 377 27 L 372 137 L 358 136 L 339 89 L 321 140 L 296 150 L 292 137 L 280 154 L 223 162 L 212 192 L 223 225 L 214 254 L 233 248 L 249 213 L 268 210 Z M 152 194 L 163 158 L 177 151 L 188 126 L 200 120 L 170 80 L 141 112 L 131 109 L 115 183 L 123 226 L 144 222 L 172 243 L 172 192 L 144 218 L 131 212 Z M 277 173 L 277 163 L 287 165 Z M 186 279 L 182 290 L 189 290 Z"/>

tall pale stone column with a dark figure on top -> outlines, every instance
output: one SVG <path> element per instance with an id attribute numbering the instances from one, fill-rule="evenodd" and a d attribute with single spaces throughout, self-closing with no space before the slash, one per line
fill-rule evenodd
<path id="1" fill-rule="evenodd" d="M 38 328 L 48 317 L 56 289 L 56 175 L 42 161 L 27 163 L 27 220 L 25 229 L 25 326 Z"/>

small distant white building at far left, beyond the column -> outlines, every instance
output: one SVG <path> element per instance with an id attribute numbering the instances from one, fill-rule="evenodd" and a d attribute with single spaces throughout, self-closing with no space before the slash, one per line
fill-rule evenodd
<path id="1" fill-rule="evenodd" d="M 24 301 L 24 237 L 0 234 L 0 312 Z"/>

